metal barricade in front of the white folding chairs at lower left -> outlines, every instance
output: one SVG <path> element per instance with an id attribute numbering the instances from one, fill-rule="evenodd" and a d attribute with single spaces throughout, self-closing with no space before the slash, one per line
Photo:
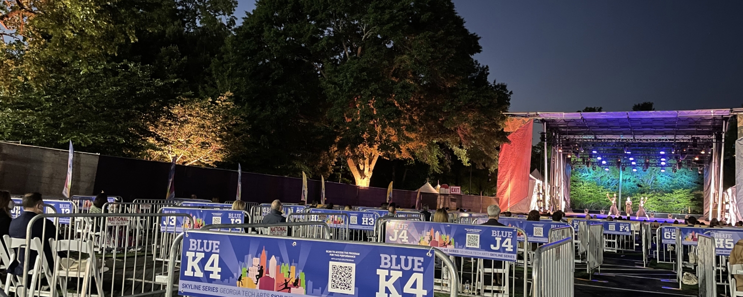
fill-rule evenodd
<path id="1" fill-rule="evenodd" d="M 149 295 L 163 290 L 165 278 L 158 280 L 169 265 L 158 265 L 156 258 L 161 247 L 158 247 L 157 238 L 160 232 L 151 226 L 158 226 L 152 222 L 158 222 L 166 216 L 188 218 L 179 214 L 36 215 L 28 224 L 25 239 L 4 238 L 9 249 L 24 249 L 16 251 L 15 255 L 22 252 L 26 259 L 22 264 L 23 275 L 13 276 L 11 284 L 6 285 L 7 290 L 15 291 L 17 296 L 56 295 L 58 289 L 65 296 L 72 293 L 70 290 L 75 296 Z M 51 238 L 47 245 L 42 244 L 41 238 L 32 238 L 32 226 L 36 221 L 48 218 L 69 218 L 71 223 L 76 218 L 87 218 L 90 224 L 74 223 L 71 228 L 87 229 L 71 232 L 72 238 L 63 238 L 59 234 L 51 234 L 55 232 L 52 225 L 44 223 L 41 238 L 45 238 L 45 241 Z M 118 241 L 125 241 L 126 244 L 119 244 Z M 32 249 L 39 255 L 47 256 L 37 256 L 33 260 L 30 258 Z M 13 257 L 8 250 L 2 252 Z M 48 261 L 48 257 L 52 262 Z M 47 279 L 50 288 L 41 286 L 41 278 Z M 27 287 L 25 284 L 30 285 Z"/>

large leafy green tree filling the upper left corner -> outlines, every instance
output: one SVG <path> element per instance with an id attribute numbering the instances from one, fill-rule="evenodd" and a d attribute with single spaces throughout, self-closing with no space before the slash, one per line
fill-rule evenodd
<path id="1" fill-rule="evenodd" d="M 196 97 L 234 0 L 0 4 L 0 139 L 139 156 L 148 123 Z"/>

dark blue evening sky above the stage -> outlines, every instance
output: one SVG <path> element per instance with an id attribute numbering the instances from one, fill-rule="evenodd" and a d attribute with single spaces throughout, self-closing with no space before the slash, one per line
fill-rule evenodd
<path id="1" fill-rule="evenodd" d="M 513 91 L 510 111 L 743 104 L 743 1 L 454 3 L 481 36 L 476 59 Z"/>

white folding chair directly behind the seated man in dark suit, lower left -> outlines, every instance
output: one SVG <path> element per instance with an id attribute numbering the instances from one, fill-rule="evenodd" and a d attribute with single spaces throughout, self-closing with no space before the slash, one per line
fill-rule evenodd
<path id="1" fill-rule="evenodd" d="M 108 270 L 103 264 L 99 264 L 95 255 L 93 241 L 76 241 L 76 240 L 59 240 L 50 239 L 52 252 L 54 253 L 54 270 L 51 286 L 56 287 L 57 282 L 62 288 L 67 287 L 67 278 L 82 278 L 82 292 L 80 296 L 88 296 L 91 276 L 95 280 L 98 296 L 103 297 L 103 272 Z M 78 252 L 87 254 L 88 258 L 61 258 L 58 252 Z M 81 255 L 82 256 L 82 255 Z M 63 267 L 65 264 L 66 267 Z M 73 267 L 77 264 L 77 267 Z M 66 290 L 62 290 L 62 295 L 67 296 Z"/>

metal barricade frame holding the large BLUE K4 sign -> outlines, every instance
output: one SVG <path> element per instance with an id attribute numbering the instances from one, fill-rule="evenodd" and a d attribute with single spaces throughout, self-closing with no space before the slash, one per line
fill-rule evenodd
<path id="1" fill-rule="evenodd" d="M 246 224 L 245 226 L 254 226 L 255 224 Z M 281 226 L 282 224 L 272 224 L 272 226 Z M 214 226 L 214 228 L 220 228 L 221 226 Z M 213 232 L 213 231 L 209 231 Z M 181 233 L 178 235 L 177 238 L 175 238 L 175 241 L 173 241 L 172 247 L 170 247 L 170 262 L 178 261 L 178 258 L 176 258 L 176 255 L 178 255 L 178 251 L 181 249 L 181 241 L 184 239 L 184 235 L 187 235 L 187 233 Z M 277 236 L 270 236 L 270 235 L 247 235 L 251 237 L 255 237 L 256 240 L 260 240 L 260 238 L 281 238 Z M 316 239 L 316 238 L 305 238 L 305 240 L 309 241 L 319 241 L 319 243 L 327 242 L 327 241 L 334 241 L 334 240 L 328 240 L 328 239 Z M 334 242 L 343 242 L 343 241 L 334 241 Z M 411 245 L 403 245 L 403 244 L 382 244 L 382 243 L 369 243 L 369 242 L 357 242 L 355 244 L 366 244 L 366 245 L 381 245 L 381 246 L 387 246 L 387 247 L 406 247 L 406 248 L 414 248 L 414 249 L 427 249 L 429 251 L 433 251 L 435 254 L 436 260 L 440 260 L 446 267 L 450 275 L 453 275 L 452 278 L 450 278 L 450 286 L 449 287 L 460 287 L 459 279 L 457 278 L 457 269 L 455 265 L 450 261 L 449 257 L 444 254 L 444 252 L 441 252 L 441 250 L 436 249 L 435 247 L 417 247 L 417 246 L 411 246 Z M 169 267 L 168 271 L 168 280 L 166 286 L 166 297 L 173 297 L 176 296 L 177 291 L 174 290 L 174 288 L 177 286 L 178 281 L 178 274 L 175 272 L 175 267 Z M 457 297 L 457 290 L 451 290 L 450 291 L 450 297 Z"/>

